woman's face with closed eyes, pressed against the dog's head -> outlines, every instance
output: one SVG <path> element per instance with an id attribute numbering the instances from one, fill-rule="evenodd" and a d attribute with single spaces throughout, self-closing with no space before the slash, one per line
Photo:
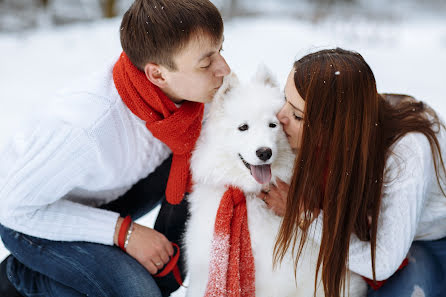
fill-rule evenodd
<path id="1" fill-rule="evenodd" d="M 294 84 L 294 68 L 285 85 L 285 104 L 277 114 L 277 118 L 283 126 L 283 131 L 288 137 L 288 142 L 294 151 L 301 145 L 302 127 L 304 117 L 305 101 L 297 92 Z"/>

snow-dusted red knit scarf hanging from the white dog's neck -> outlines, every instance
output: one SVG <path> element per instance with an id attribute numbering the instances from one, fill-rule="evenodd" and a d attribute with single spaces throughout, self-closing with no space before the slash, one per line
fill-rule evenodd
<path id="1" fill-rule="evenodd" d="M 254 297 L 255 268 L 243 192 L 229 187 L 217 211 L 205 297 Z"/>

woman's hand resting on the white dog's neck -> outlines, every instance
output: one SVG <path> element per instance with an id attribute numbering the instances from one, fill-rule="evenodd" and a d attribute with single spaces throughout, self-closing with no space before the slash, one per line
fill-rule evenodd
<path id="1" fill-rule="evenodd" d="M 268 191 L 262 191 L 258 195 L 266 205 L 278 216 L 283 217 L 286 210 L 286 200 L 290 186 L 277 179 L 277 186 L 270 185 Z"/>

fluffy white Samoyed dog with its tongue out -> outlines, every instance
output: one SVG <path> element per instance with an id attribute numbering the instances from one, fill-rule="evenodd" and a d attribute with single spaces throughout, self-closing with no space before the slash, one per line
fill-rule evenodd
<path id="1" fill-rule="evenodd" d="M 214 97 L 191 159 L 194 187 L 188 196 L 190 218 L 184 237 L 188 297 L 205 294 L 216 214 L 228 186 L 238 187 L 246 197 L 256 296 L 314 296 L 319 247 L 308 239 L 296 277 L 291 252 L 273 269 L 281 218 L 257 197 L 276 178 L 288 183 L 291 178 L 295 156 L 276 117 L 283 104 L 265 67 L 247 84 L 234 74 L 227 76 Z M 364 283 L 364 296 L 365 288 Z M 324 296 L 320 281 L 316 296 Z"/>

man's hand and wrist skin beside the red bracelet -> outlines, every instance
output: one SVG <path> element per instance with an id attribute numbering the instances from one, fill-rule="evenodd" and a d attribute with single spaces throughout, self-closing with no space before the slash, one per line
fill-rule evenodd
<path id="1" fill-rule="evenodd" d="M 122 223 L 118 219 L 115 232 L 115 244 L 117 233 Z M 133 223 L 133 232 L 127 245 L 127 253 L 135 258 L 151 274 L 156 274 L 170 260 L 174 250 L 172 243 L 158 231 L 136 223 Z"/>

